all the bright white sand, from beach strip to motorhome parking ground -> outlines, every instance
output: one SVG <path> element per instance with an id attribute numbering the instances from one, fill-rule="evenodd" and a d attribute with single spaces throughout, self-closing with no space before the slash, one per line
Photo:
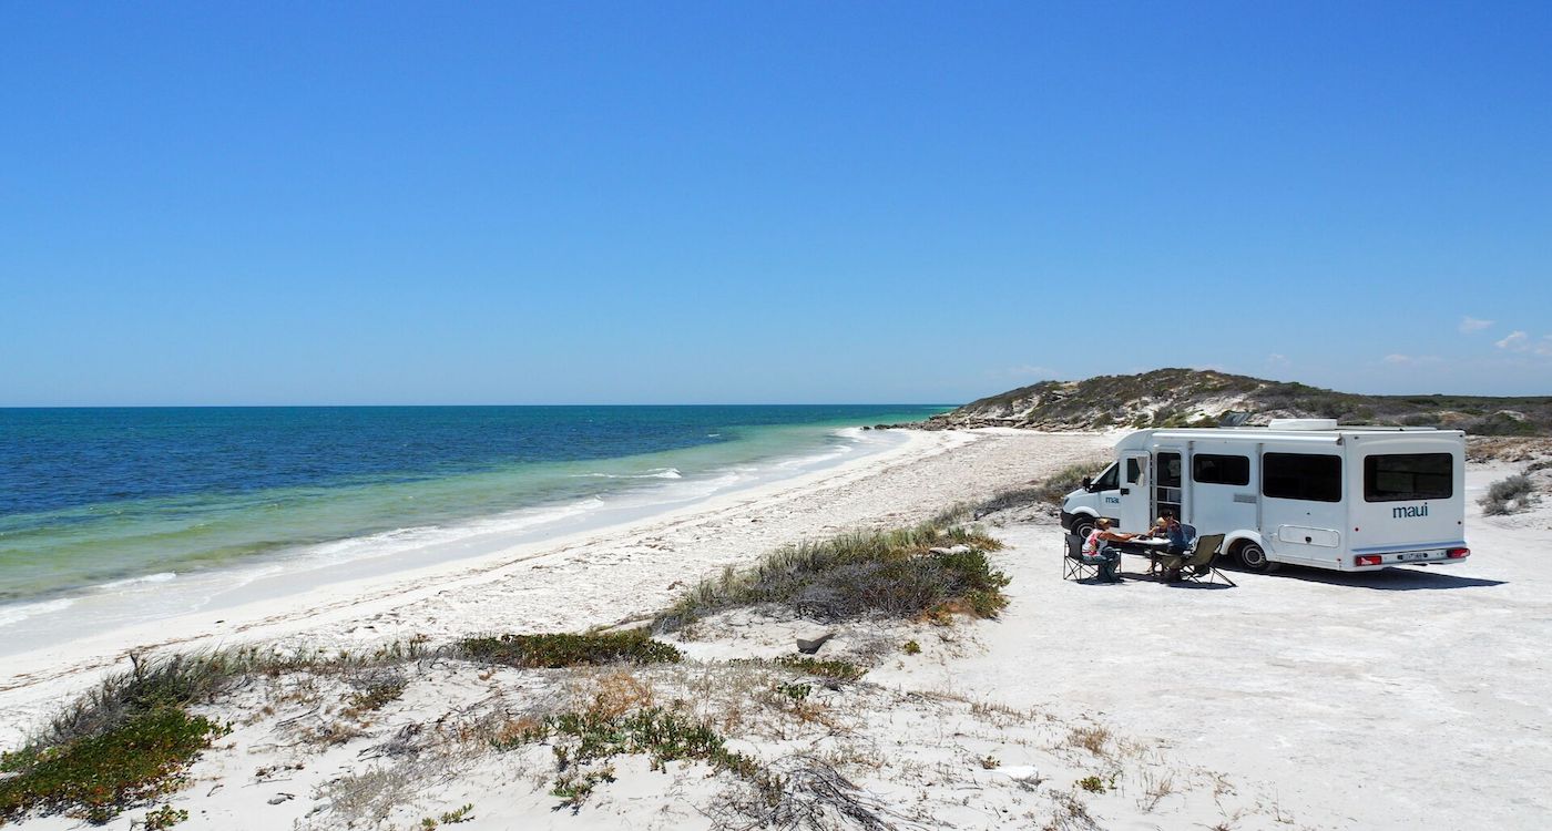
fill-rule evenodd
<path id="1" fill-rule="evenodd" d="M 643 620 L 689 584 L 782 543 L 913 522 L 1099 457 L 1108 443 L 1094 434 L 911 433 L 888 454 L 672 515 L 303 592 L 220 622 L 178 619 L 22 654 L 0 674 L 0 743 L 16 746 L 64 699 L 123 667 L 129 650 L 369 650 Z M 818 626 L 742 612 L 674 636 L 691 662 L 630 678 L 436 660 L 357 733 L 317 747 L 298 730 L 321 724 L 331 707 L 320 715 L 309 702 L 340 701 L 343 685 L 251 688 L 213 710 L 234 730 L 171 803 L 189 811 L 188 828 L 408 828 L 462 805 L 473 806 L 466 828 L 719 826 L 726 783 L 702 763 L 650 771 L 644 758 L 624 758 L 613 781 L 571 812 L 554 809 L 545 747 L 444 755 L 435 771 L 428 757 L 393 750 L 414 744 L 408 736 L 422 727 L 453 735 L 450 726 L 492 713 L 627 687 L 722 719 L 739 750 L 844 769 L 899 828 L 1543 828 L 1552 815 L 1552 575 L 1538 563 L 1552 550 L 1552 509 L 1482 518 L 1474 495 L 1504 473 L 1468 473 L 1474 553 L 1459 566 L 1232 572 L 1237 588 L 1063 581 L 1060 529 L 1003 516 L 992 532 L 1009 547 L 993 563 L 1012 577 L 1010 606 L 996 620 L 951 626 L 843 626 L 821 657 L 880 654 L 880 643 L 906 639 L 920 653 L 896 650 L 861 682 L 819 687 L 781 710 L 805 713 L 798 727 L 767 713 L 782 702 L 768 701 L 760 670 L 743 687 L 765 702 L 756 707 L 726 699 L 698 660 L 781 654 Z M 379 788 L 390 774 L 414 781 L 416 771 L 430 777 L 424 786 L 391 806 L 372 802 L 391 791 Z M 1076 784 L 1090 777 L 1093 791 Z M 34 825 L 78 820 L 26 822 Z"/>

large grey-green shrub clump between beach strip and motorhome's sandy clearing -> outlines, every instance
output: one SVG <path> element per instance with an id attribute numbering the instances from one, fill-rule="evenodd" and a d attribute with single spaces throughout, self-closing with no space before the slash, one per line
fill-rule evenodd
<path id="1" fill-rule="evenodd" d="M 986 552 L 1001 543 L 945 519 L 784 546 L 750 569 L 729 567 L 700 583 L 658 614 L 653 629 L 675 631 L 708 614 L 757 603 L 784 605 L 816 620 L 909 617 L 959 606 L 995 615 L 1006 605 L 1007 577 L 990 567 Z"/>

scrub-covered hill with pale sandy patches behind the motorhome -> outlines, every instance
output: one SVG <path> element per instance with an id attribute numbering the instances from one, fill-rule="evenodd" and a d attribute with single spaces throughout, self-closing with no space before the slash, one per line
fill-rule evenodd
<path id="1" fill-rule="evenodd" d="M 1443 426 L 1478 436 L 1552 434 L 1552 395 L 1360 395 L 1212 369 L 1041 381 L 970 402 L 919 426 L 1141 429 L 1217 426 L 1235 414 L 1249 425 L 1271 419 L 1336 419 L 1342 425 Z"/>

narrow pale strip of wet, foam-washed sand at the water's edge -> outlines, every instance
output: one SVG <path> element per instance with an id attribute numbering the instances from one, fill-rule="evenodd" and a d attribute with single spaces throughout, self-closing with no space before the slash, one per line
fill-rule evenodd
<path id="1" fill-rule="evenodd" d="M 824 473 L 847 462 L 889 454 L 909 443 L 908 436 L 875 439 L 857 428 L 826 431 L 833 443 L 795 447 L 788 453 L 753 462 L 698 470 L 681 476 L 677 468 L 650 474 L 576 473 L 627 482 L 613 491 L 546 499 L 529 505 L 473 515 L 447 522 L 407 524 L 388 530 L 279 547 L 244 561 L 188 571 L 130 574 L 65 592 L 50 592 L 0 605 L 0 659 L 22 651 L 53 648 L 88 633 L 133 629 L 155 620 L 228 612 L 256 603 L 287 603 L 320 586 L 371 586 L 402 574 L 456 569 L 531 544 L 548 544 L 579 533 L 593 533 L 695 509 L 719 498 L 759 493 L 802 476 Z M 636 462 L 646 457 L 624 457 Z M 660 460 L 660 459 L 653 459 Z M 666 474 L 664 471 L 672 471 Z M 492 482 L 490 487 L 500 487 Z M 147 614 L 146 605 L 163 606 Z M 29 643 L 28 650 L 9 643 Z"/>

